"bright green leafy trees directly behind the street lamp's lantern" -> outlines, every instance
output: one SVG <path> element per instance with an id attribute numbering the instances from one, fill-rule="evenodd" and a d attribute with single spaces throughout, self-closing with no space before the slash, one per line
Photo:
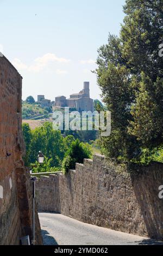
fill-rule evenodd
<path id="1" fill-rule="evenodd" d="M 61 132 L 53 130 L 52 123 L 46 122 L 34 130 L 30 130 L 28 124 L 23 124 L 23 136 L 26 143 L 27 166 L 36 162 L 39 150 L 49 159 L 47 168 L 49 168 L 49 164 L 51 167 L 61 166 L 67 146 Z"/>

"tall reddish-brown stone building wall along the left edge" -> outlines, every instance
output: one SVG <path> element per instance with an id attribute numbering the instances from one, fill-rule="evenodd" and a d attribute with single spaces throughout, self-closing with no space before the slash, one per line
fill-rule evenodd
<path id="1" fill-rule="evenodd" d="M 24 167 L 21 131 L 22 77 L 0 57 L 0 245 L 32 238 L 32 188 Z M 36 212 L 36 244 L 42 243 Z"/>

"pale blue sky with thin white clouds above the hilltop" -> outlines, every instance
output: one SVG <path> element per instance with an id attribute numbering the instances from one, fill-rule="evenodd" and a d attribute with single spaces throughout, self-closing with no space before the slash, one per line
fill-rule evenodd
<path id="1" fill-rule="evenodd" d="M 125 0 L 0 0 L 0 52 L 23 77 L 22 98 L 69 97 L 96 81 L 97 49 L 118 35 Z"/>

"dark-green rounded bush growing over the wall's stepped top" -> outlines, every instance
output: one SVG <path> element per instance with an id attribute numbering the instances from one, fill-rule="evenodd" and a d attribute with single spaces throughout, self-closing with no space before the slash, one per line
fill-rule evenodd
<path id="1" fill-rule="evenodd" d="M 71 143 L 71 147 L 62 162 L 63 172 L 67 173 L 69 169 L 74 169 L 76 163 L 83 163 L 84 159 L 91 158 L 91 155 L 91 146 L 76 139 Z"/>

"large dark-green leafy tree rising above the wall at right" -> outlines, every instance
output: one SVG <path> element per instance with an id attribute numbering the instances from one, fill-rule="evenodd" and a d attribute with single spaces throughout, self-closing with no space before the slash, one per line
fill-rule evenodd
<path id="1" fill-rule="evenodd" d="M 149 163 L 163 143 L 162 1 L 127 0 L 120 37 L 98 50 L 97 81 L 111 111 L 102 148 L 118 161 Z"/>

